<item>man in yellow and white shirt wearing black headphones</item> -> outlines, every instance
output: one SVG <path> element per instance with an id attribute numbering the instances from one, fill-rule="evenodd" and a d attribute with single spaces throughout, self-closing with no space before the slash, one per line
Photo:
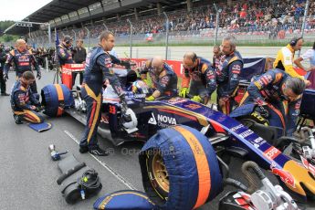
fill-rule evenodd
<path id="1" fill-rule="evenodd" d="M 282 47 L 278 51 L 277 58 L 273 63 L 273 68 L 284 70 L 291 77 L 304 79 L 304 77 L 300 76 L 293 68 L 294 54 L 296 51 L 299 51 L 301 49 L 302 45 L 303 45 L 302 37 L 292 38 L 286 47 Z M 304 82 L 307 86 L 310 85 L 309 80 L 304 79 Z"/>

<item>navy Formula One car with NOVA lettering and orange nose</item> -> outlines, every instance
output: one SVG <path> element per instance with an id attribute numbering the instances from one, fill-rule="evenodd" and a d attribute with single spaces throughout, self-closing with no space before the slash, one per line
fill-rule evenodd
<path id="1" fill-rule="evenodd" d="M 272 145 L 273 142 L 268 142 L 239 121 L 203 104 L 178 97 L 163 97 L 154 101 L 146 101 L 145 97 L 150 89 L 143 81 L 137 79 L 134 71 L 115 69 L 115 73 L 124 86 L 129 108 L 127 113 L 131 115 L 132 121 L 123 120 L 119 97 L 108 85 L 104 90 L 99 127 L 99 133 L 105 139 L 110 140 L 115 145 L 131 141 L 146 142 L 160 130 L 181 124 L 200 131 L 205 136 L 206 142 L 214 148 L 218 157 L 227 154 L 227 156 L 252 160 L 260 167 L 270 170 L 278 176 L 281 186 L 288 190 L 294 198 L 303 201 L 314 198 L 315 171 L 312 170 L 314 166 L 311 163 L 303 165 L 292 160 Z M 51 89 L 56 88 L 56 86 L 51 86 Z M 56 89 L 60 91 L 61 88 Z M 44 101 L 46 100 L 44 105 L 49 104 L 47 101 L 49 98 L 47 92 L 49 91 L 53 90 L 45 90 L 45 88 L 42 90 L 42 98 Z M 67 88 L 62 88 L 62 91 L 64 91 L 63 96 L 67 96 L 67 100 L 72 101 L 67 103 L 66 98 L 63 98 L 63 108 L 67 108 L 65 104 L 68 104 L 68 109 L 65 111 L 75 119 L 86 123 L 86 105 L 84 100 L 80 98 L 80 87 L 71 90 L 70 94 L 69 90 L 67 93 Z M 266 132 L 271 131 L 268 131 L 267 127 Z M 176 148 L 176 146 L 174 144 L 169 148 Z M 165 160 L 162 159 L 163 154 L 145 155 L 142 166 L 145 165 L 145 170 L 150 177 L 147 181 L 151 184 L 153 191 L 159 194 L 163 201 L 166 201 L 170 185 L 167 181 L 168 173 L 165 171 L 163 163 Z"/>

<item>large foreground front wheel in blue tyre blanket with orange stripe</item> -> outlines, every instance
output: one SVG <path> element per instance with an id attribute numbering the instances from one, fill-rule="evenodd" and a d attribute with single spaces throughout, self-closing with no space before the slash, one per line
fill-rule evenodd
<path id="1" fill-rule="evenodd" d="M 143 146 L 139 162 L 144 190 L 160 209 L 194 209 L 223 189 L 211 143 L 187 126 L 158 131 Z"/>

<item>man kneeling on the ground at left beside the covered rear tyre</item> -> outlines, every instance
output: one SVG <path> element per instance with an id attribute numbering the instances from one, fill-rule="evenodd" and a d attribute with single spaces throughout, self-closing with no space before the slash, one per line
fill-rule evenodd
<path id="1" fill-rule="evenodd" d="M 16 81 L 11 92 L 11 107 L 14 113 L 16 124 L 22 121 L 41 123 L 44 118 L 37 111 L 40 110 L 40 103 L 30 89 L 30 85 L 35 81 L 34 74 L 26 71 L 22 77 Z"/>

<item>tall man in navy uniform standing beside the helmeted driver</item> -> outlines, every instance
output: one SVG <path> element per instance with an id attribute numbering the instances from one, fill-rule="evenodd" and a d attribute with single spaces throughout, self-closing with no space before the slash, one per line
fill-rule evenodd
<path id="1" fill-rule="evenodd" d="M 111 87 L 121 100 L 122 116 L 125 116 L 126 100 L 121 89 L 120 80 L 112 71 L 113 62 L 121 64 L 121 60 L 110 58 L 109 51 L 115 45 L 115 38 L 109 31 L 100 34 L 100 44 L 88 54 L 83 75 L 81 95 L 87 103 L 87 125 L 79 143 L 79 152 L 89 152 L 95 155 L 106 156 L 109 153 L 100 149 L 97 140 L 97 131 L 100 124 L 100 108 L 102 105 L 102 87 L 105 81 L 110 81 Z M 128 116 L 126 121 L 128 121 Z"/>

